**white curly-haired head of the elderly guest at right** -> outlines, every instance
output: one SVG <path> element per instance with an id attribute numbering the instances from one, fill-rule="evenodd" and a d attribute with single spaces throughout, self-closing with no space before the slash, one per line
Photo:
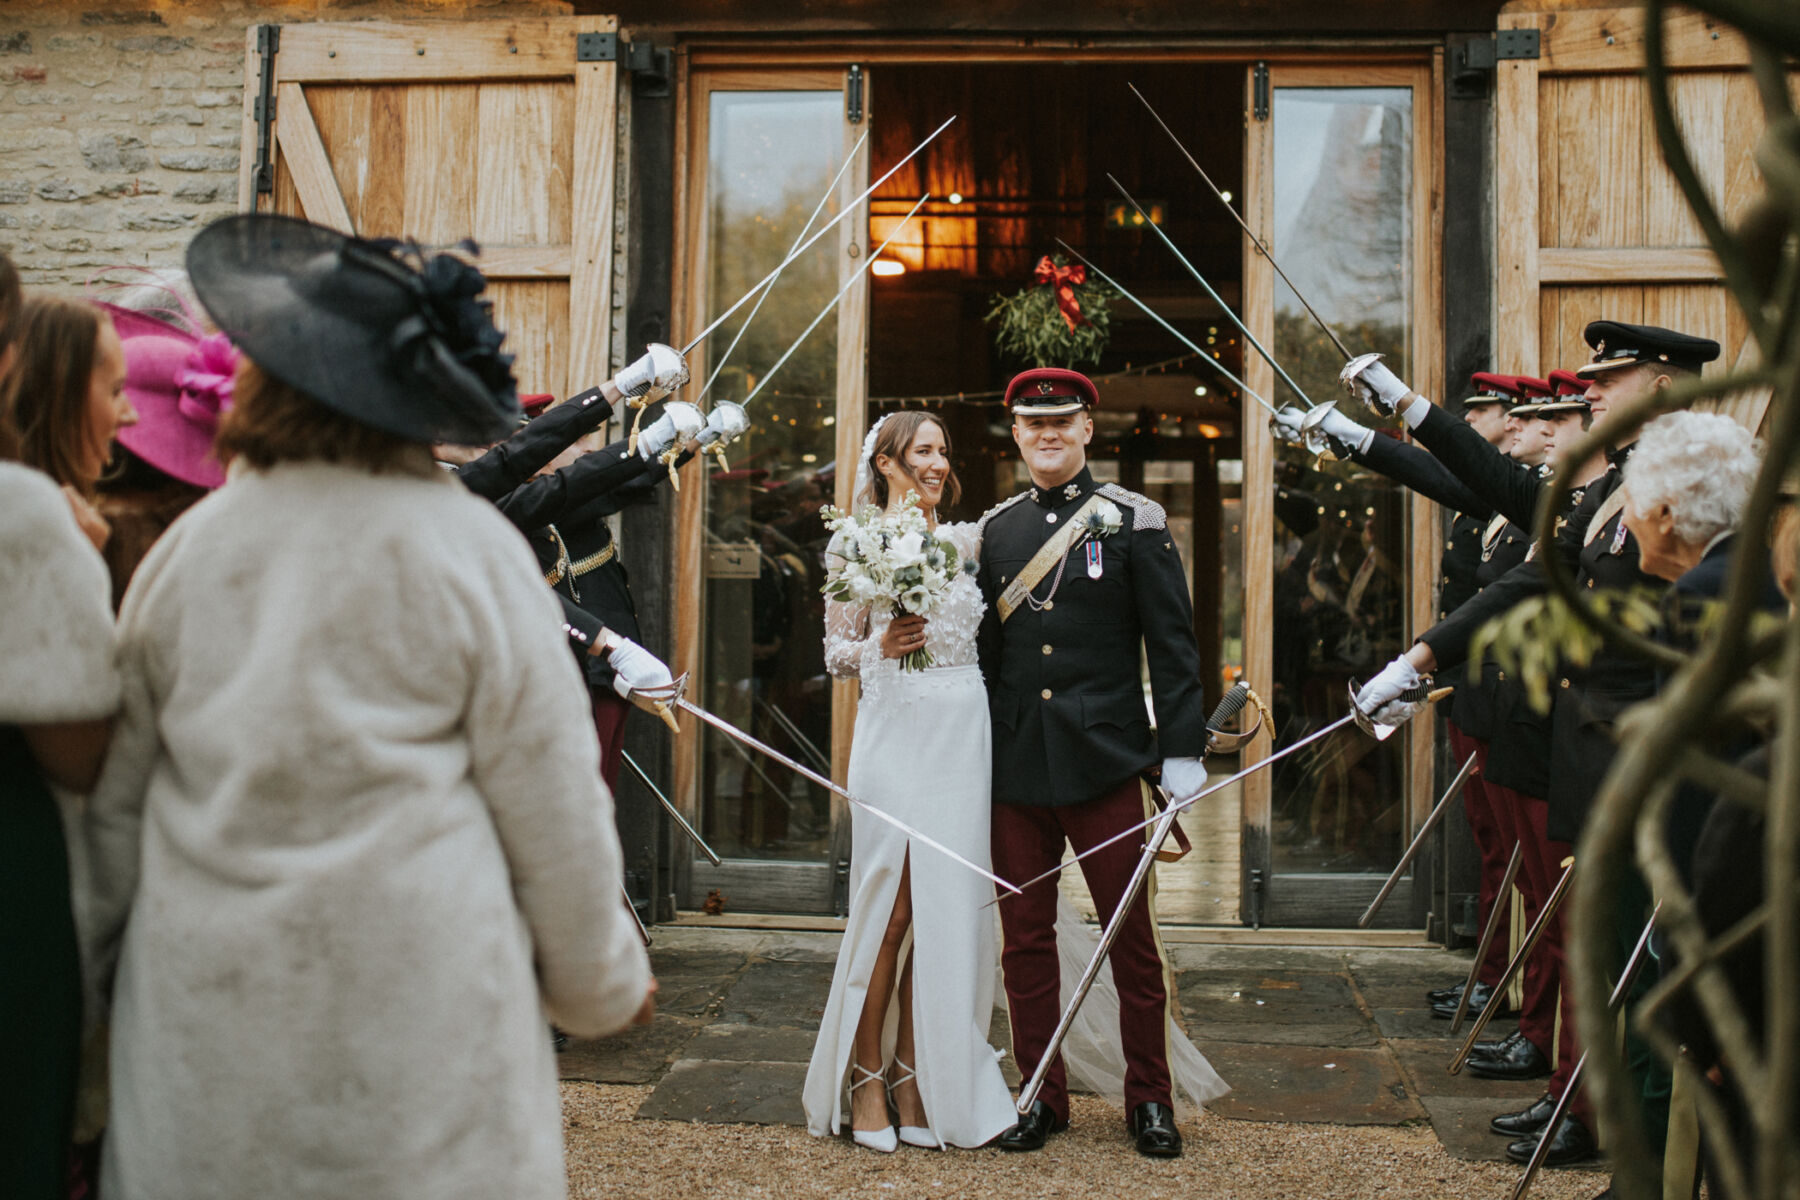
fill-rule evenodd
<path id="1" fill-rule="evenodd" d="M 1715 412 L 1670 412 L 1645 425 L 1625 464 L 1622 513 L 1645 574 L 1717 596 L 1760 462 L 1750 430 Z"/>

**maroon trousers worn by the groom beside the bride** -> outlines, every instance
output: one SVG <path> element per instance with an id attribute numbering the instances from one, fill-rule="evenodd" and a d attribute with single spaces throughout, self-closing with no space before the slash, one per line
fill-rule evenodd
<path id="1" fill-rule="evenodd" d="M 1030 880 L 1062 860 L 1062 844 L 1076 853 L 1103 842 L 1147 815 L 1143 788 L 1130 779 L 1098 801 L 1064 808 L 994 806 L 994 873 L 1003 880 Z M 1093 858 L 1084 858 L 1082 878 L 1094 898 L 1100 919 L 1111 919 L 1138 860 L 1143 838 L 1120 838 Z M 1006 1009 L 1012 1018 L 1013 1058 L 1031 1078 L 1049 1047 L 1049 1034 L 1062 1016 L 1062 977 L 1057 961 L 1057 876 L 1001 900 L 1001 968 L 1006 977 Z M 1138 1105 L 1170 1105 L 1168 1020 L 1170 981 L 1150 905 L 1150 885 L 1129 909 L 1120 936 L 1107 955 L 1120 991 L 1120 1038 L 1125 1045 L 1125 1110 Z M 1069 1083 L 1062 1054 L 1044 1076 L 1039 1099 L 1069 1117 Z"/>

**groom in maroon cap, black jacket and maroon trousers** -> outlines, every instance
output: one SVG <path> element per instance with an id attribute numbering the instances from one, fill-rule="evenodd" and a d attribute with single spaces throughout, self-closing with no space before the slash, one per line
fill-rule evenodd
<path id="1" fill-rule="evenodd" d="M 1163 507 L 1087 470 L 1089 416 L 1100 398 L 1075 371 L 1026 371 L 1006 387 L 1012 435 L 1031 489 L 981 518 L 979 649 L 994 721 L 994 871 L 1024 882 L 1154 810 L 1143 772 L 1163 765 L 1175 797 L 1206 783 L 1206 712 L 1193 608 Z M 1139 684 L 1150 664 L 1156 729 Z M 1143 838 L 1082 860 L 1105 921 L 1118 907 Z M 1138 1151 L 1174 1159 L 1181 1132 L 1168 1076 L 1170 975 L 1152 912 L 1154 883 L 1112 943 L 1125 1045 L 1125 1110 Z M 1057 880 L 1001 901 L 1006 1006 L 1013 1056 L 1037 1069 L 1062 1015 Z M 1039 1150 L 1069 1124 L 1060 1056 L 1031 1112 L 1001 1150 Z"/>

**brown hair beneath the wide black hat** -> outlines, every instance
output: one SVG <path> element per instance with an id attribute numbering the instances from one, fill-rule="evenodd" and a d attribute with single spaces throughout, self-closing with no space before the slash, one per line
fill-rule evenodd
<path id="1" fill-rule="evenodd" d="M 351 421 L 257 367 L 238 360 L 230 412 L 212 439 L 220 462 L 243 459 L 263 471 L 277 462 L 342 462 L 367 471 L 430 473 L 430 450 Z"/>

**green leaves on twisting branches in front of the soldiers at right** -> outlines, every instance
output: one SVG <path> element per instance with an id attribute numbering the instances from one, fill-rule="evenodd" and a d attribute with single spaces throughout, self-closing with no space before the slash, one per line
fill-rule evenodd
<path id="1" fill-rule="evenodd" d="M 1633 633 L 1651 633 L 1663 626 L 1663 610 L 1651 588 L 1631 592 L 1595 592 L 1593 606 L 1602 617 Z M 1469 644 L 1469 669 L 1478 671 L 1492 657 L 1501 671 L 1525 684 L 1525 694 L 1537 712 L 1550 711 L 1550 685 L 1564 664 L 1584 667 L 1593 662 L 1604 639 L 1562 601 L 1546 594 L 1521 601 L 1494 617 Z"/>

